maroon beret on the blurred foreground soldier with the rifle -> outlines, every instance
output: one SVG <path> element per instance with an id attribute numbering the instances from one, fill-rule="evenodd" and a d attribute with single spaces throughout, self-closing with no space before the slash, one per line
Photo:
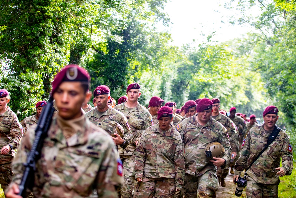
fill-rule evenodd
<path id="1" fill-rule="evenodd" d="M 90 83 L 91 77 L 89 72 L 78 65 L 67 65 L 55 75 L 52 81 L 52 94 L 57 91 L 57 88 L 64 81 L 79 81 Z"/>

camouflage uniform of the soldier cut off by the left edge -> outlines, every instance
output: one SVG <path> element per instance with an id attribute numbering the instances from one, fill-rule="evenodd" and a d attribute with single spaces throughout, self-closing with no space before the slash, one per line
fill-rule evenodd
<path id="1" fill-rule="evenodd" d="M 15 150 L 22 139 L 22 125 L 17 119 L 15 113 L 8 109 L 0 115 L 0 150 L 11 144 L 11 149 L 6 155 L 0 154 L 0 184 L 3 191 L 8 187 L 13 172 L 11 162 L 15 158 Z"/>

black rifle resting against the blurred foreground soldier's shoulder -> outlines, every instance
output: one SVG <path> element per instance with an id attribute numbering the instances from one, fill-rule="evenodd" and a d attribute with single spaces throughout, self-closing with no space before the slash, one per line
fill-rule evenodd
<path id="1" fill-rule="evenodd" d="M 50 96 L 49 101 L 42 110 L 42 113 L 35 130 L 35 140 L 33 142 L 31 151 L 27 157 L 27 161 L 24 164 L 25 171 L 20 183 L 20 192 L 18 195 L 23 198 L 27 197 L 27 189 L 32 190 L 34 186 L 34 172 L 36 170 L 36 162 L 41 157 L 41 150 L 43 147 L 44 139 L 47 137 L 50 124 L 52 122 L 52 115 L 54 113 L 53 98 Z"/>

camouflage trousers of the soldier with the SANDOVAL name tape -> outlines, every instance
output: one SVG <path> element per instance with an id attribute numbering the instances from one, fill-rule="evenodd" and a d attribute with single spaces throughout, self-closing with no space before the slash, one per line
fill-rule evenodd
<path id="1" fill-rule="evenodd" d="M 142 178 L 135 187 L 134 198 L 173 198 L 175 178 Z"/>

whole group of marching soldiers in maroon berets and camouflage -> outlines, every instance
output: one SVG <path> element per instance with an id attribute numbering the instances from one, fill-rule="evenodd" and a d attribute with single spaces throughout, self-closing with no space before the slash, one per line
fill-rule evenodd
<path id="1" fill-rule="evenodd" d="M 28 197 L 215 197 L 220 184 L 226 186 L 229 169 L 236 182 L 278 119 L 277 107 L 268 106 L 259 126 L 254 114 L 247 120 L 235 107 L 228 115 L 218 98 L 188 100 L 177 109 L 175 102 L 163 106 L 164 100 L 153 96 L 146 109 L 138 102 L 138 83 L 128 85 L 116 105 L 108 86 L 90 92 L 89 84 L 88 72 L 77 65 L 55 76 L 53 121 Z M 6 197 L 20 198 L 23 164 L 46 101 L 19 123 L 7 96 L 1 89 L 6 101 L 0 101 L 0 183 Z M 88 104 L 91 96 L 94 107 Z M 277 197 L 279 177 L 291 175 L 287 134 L 281 130 L 274 143 L 263 153 L 265 164 L 259 160 L 248 170 L 247 197 Z M 265 179 L 262 170 L 269 174 Z"/>

